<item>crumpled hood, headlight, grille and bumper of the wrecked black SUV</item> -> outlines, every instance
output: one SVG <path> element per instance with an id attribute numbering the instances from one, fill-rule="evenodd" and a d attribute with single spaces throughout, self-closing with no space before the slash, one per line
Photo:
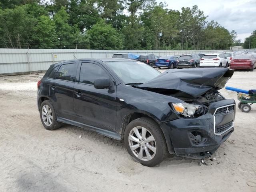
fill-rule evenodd
<path id="1" fill-rule="evenodd" d="M 169 103 L 179 118 L 161 122 L 170 153 L 189 158 L 213 154 L 234 131 L 236 105 L 219 92 L 233 75 L 227 68 L 168 70 L 137 88 L 183 100 Z"/>

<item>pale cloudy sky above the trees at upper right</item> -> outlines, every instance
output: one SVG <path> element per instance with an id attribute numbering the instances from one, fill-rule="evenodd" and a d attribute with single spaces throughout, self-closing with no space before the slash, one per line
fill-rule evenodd
<path id="1" fill-rule="evenodd" d="M 204 11 L 204 15 L 208 15 L 208 21 L 214 20 L 229 31 L 235 30 L 237 39 L 241 39 L 241 42 L 256 30 L 256 0 L 165 0 L 165 2 L 169 9 L 174 10 L 197 5 Z"/>

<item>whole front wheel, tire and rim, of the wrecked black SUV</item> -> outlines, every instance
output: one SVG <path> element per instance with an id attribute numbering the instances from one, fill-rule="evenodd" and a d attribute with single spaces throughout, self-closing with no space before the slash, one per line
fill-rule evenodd
<path id="1" fill-rule="evenodd" d="M 128 153 L 144 166 L 156 166 L 167 155 L 164 134 L 150 118 L 130 122 L 124 132 L 124 143 Z"/>

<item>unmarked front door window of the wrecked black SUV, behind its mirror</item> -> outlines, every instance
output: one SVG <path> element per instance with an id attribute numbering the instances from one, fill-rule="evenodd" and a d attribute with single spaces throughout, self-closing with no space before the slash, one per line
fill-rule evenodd
<path id="1" fill-rule="evenodd" d="M 104 69 L 94 63 L 82 63 L 80 70 L 80 83 L 94 84 L 94 81 L 98 78 L 109 78 Z"/>

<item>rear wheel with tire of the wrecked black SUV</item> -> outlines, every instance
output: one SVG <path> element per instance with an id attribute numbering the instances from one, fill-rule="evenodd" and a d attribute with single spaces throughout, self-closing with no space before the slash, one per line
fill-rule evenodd
<path id="1" fill-rule="evenodd" d="M 50 100 L 45 100 L 40 105 L 40 119 L 47 130 L 55 130 L 62 125 L 57 121 L 57 114 Z"/>

